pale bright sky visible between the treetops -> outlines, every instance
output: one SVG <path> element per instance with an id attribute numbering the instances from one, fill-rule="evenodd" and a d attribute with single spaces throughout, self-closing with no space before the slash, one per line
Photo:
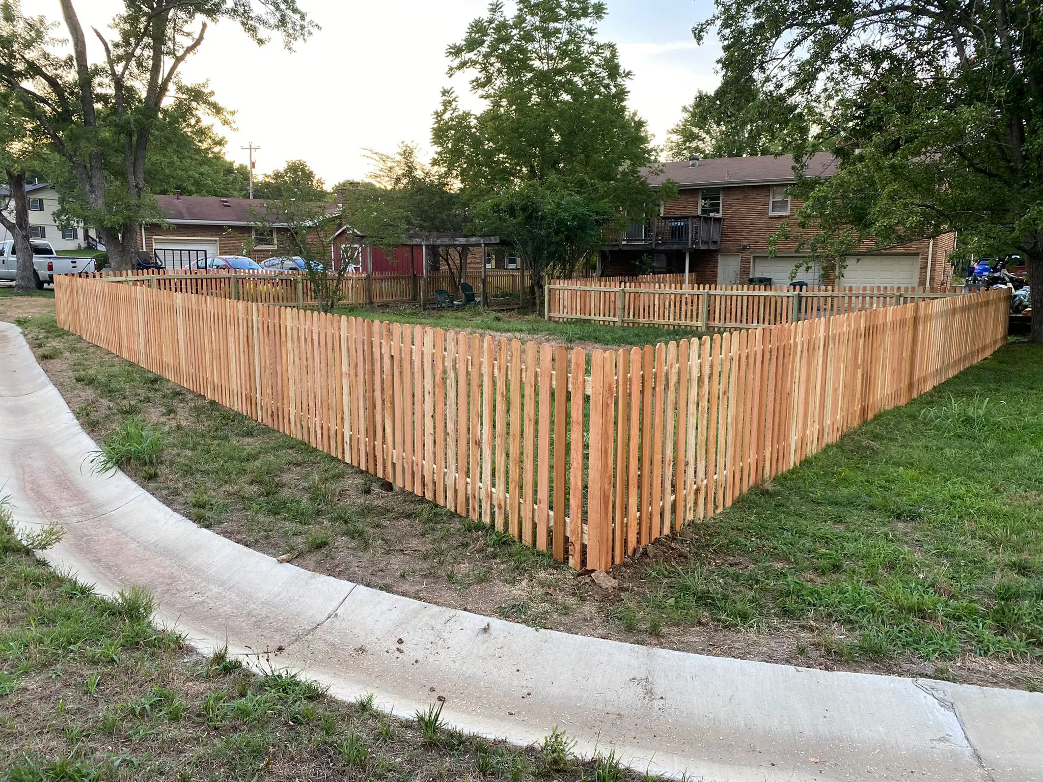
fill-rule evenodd
<path id="1" fill-rule="evenodd" d="M 445 47 L 484 16 L 487 0 L 299 0 L 321 29 L 292 52 L 275 39 L 258 47 L 237 25 L 212 25 L 183 66 L 191 81 L 209 80 L 217 100 L 235 111 L 236 129 L 221 128 L 226 154 L 245 163 L 251 143 L 258 175 L 302 158 L 326 185 L 362 178 L 366 149 L 393 152 L 402 141 L 430 153 L 432 113 L 440 90 L 454 85 L 466 101 L 466 79 L 450 79 Z M 119 0 L 77 0 L 80 23 L 104 31 Z M 711 0 L 607 0 L 599 34 L 618 45 L 633 72 L 630 106 L 661 144 L 681 107 L 718 77 L 715 43 L 697 47 L 692 25 Z M 58 0 L 35 0 L 59 21 Z M 64 28 L 60 28 L 64 29 Z M 101 56 L 91 36 L 90 56 Z"/>

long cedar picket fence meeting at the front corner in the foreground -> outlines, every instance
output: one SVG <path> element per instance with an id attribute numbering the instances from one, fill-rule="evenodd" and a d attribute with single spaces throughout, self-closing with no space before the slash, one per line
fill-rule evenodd
<path id="1" fill-rule="evenodd" d="M 607 569 L 988 357 L 1008 293 L 572 351 L 104 278 L 57 322 L 359 468 Z"/>

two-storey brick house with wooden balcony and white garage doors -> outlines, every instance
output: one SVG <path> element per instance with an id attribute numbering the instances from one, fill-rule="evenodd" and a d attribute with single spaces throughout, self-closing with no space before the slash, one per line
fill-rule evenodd
<path id="1" fill-rule="evenodd" d="M 833 157 L 812 155 L 807 176 L 830 176 Z M 787 285 L 802 253 L 796 240 L 779 242 L 771 256 L 768 237 L 792 218 L 801 205 L 790 197 L 787 187 L 796 179 L 793 156 L 721 157 L 668 163 L 661 173 L 649 178 L 652 186 L 671 179 L 679 193 L 665 202 L 661 215 L 634 222 L 623 237 L 601 253 L 602 274 L 633 274 L 638 268 L 654 272 L 683 273 L 689 282 L 727 285 L 751 277 Z M 882 252 L 853 255 L 843 272 L 842 285 L 927 286 L 948 283 L 949 253 L 955 235 L 946 234 Z M 809 285 L 832 283 L 817 270 L 802 270 L 795 279 Z"/>

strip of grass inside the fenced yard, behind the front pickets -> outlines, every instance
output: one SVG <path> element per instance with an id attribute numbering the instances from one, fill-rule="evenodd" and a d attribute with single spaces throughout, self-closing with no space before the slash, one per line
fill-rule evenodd
<path id="1" fill-rule="evenodd" d="M 341 315 L 372 320 L 391 320 L 398 323 L 422 323 L 440 328 L 467 332 L 494 332 L 511 334 L 519 339 L 543 339 L 565 345 L 654 345 L 656 342 L 695 337 L 699 332 L 687 328 L 656 328 L 653 326 L 625 326 L 572 320 L 564 322 L 544 320 L 538 315 L 513 312 L 495 312 L 481 307 L 459 310 L 421 310 L 409 304 L 386 310 L 355 307 L 341 308 Z"/>

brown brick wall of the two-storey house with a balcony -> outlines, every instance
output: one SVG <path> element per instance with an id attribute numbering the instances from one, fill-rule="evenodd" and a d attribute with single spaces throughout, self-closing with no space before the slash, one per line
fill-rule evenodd
<path id="1" fill-rule="evenodd" d="M 790 203 L 789 216 L 773 216 L 768 214 L 770 188 L 767 185 L 737 186 L 721 188 L 721 249 L 725 254 L 738 254 L 739 278 L 750 276 L 750 268 L 754 255 L 763 255 L 769 251 L 768 237 L 777 231 L 785 220 L 791 220 L 797 210 L 803 204 L 794 198 Z M 680 217 L 699 214 L 699 191 L 682 190 L 677 198 L 663 204 L 663 216 Z M 933 250 L 929 240 L 921 240 L 896 247 L 889 252 L 896 254 L 916 253 L 920 255 L 920 285 L 927 285 L 928 255 L 930 256 L 930 285 L 939 286 L 948 282 L 948 255 L 952 251 L 954 235 L 946 234 L 935 240 Z M 776 245 L 779 253 L 796 252 L 798 239 L 780 241 Z M 743 249 L 743 245 L 748 245 Z M 871 242 L 864 245 L 866 251 L 872 247 Z M 697 272 L 699 283 L 717 283 L 718 253 L 696 256 L 693 253 L 692 268 Z"/>

